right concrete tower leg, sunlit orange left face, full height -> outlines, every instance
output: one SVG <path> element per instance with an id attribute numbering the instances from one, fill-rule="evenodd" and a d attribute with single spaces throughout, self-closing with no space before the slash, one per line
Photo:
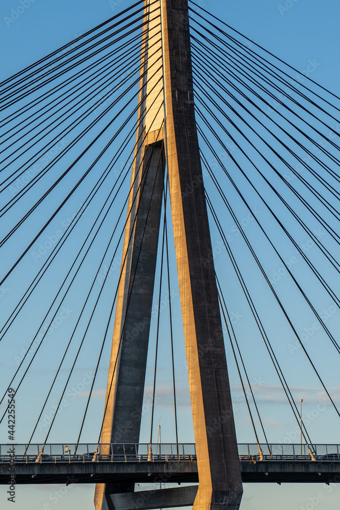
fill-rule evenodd
<path id="1" fill-rule="evenodd" d="M 241 469 L 199 154 L 187 0 L 162 0 L 166 151 L 197 449 L 195 510 L 238 510 Z"/>

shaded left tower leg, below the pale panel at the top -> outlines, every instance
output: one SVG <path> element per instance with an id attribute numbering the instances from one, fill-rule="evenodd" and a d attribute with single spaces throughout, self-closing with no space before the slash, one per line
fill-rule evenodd
<path id="1" fill-rule="evenodd" d="M 163 143 L 145 148 L 140 191 L 131 193 L 132 214 L 126 225 L 122 276 L 120 280 L 109 377 L 106 414 L 101 435 L 102 444 L 139 442 L 145 371 L 151 321 L 154 276 L 164 188 L 165 155 Z M 133 172 L 134 182 L 136 172 Z M 137 184 L 135 185 L 135 187 Z M 136 196 L 133 205 L 133 197 Z M 129 241 L 130 240 L 130 241 Z M 124 255 L 126 261 L 124 264 Z M 111 453 L 101 447 L 102 453 Z M 126 486 L 126 487 L 125 487 Z M 126 483 L 116 491 L 97 484 L 96 510 L 111 510 L 110 492 L 132 492 L 134 484 Z"/>

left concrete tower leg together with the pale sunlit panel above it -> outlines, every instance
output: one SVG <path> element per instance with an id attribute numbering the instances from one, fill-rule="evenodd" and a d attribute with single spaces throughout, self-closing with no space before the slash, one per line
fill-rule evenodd
<path id="1" fill-rule="evenodd" d="M 148 30 L 142 39 L 140 108 L 128 200 L 131 214 L 124 235 L 101 443 L 139 442 L 165 167 L 164 108 L 160 109 L 163 71 L 156 72 L 162 65 L 162 59 L 156 61 L 162 55 L 160 12 L 160 2 L 153 2 L 150 8 L 145 0 L 144 21 L 148 25 L 143 30 Z M 112 510 L 110 494 L 132 492 L 134 485 L 96 484 L 96 510 Z"/>

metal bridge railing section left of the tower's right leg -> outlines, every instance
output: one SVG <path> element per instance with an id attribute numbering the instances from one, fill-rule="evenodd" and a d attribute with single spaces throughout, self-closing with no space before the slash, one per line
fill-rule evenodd
<path id="1" fill-rule="evenodd" d="M 16 444 L 0 445 L 0 462 L 169 462 L 196 460 L 195 444 Z"/>

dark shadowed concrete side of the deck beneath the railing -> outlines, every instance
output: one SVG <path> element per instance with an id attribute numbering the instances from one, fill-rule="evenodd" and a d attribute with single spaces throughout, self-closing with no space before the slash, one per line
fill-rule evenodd
<path id="1" fill-rule="evenodd" d="M 338 483 L 340 462 L 241 461 L 247 483 Z M 9 480 L 8 463 L 0 463 L 0 483 Z M 268 473 L 268 474 L 266 474 Z M 91 476 L 92 475 L 92 476 Z M 196 461 L 184 462 L 30 462 L 15 464 L 16 483 L 196 483 Z"/>

